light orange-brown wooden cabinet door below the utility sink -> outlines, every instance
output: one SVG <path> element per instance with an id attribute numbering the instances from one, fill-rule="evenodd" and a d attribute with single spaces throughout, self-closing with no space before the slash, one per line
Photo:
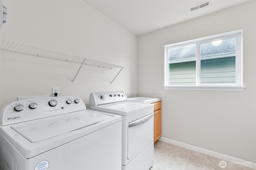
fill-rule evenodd
<path id="1" fill-rule="evenodd" d="M 154 142 L 162 135 L 162 109 L 154 111 Z"/>

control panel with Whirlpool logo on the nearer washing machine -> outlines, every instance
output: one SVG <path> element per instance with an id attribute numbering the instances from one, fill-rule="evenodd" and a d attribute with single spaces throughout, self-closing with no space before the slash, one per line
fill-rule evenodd
<path id="1" fill-rule="evenodd" d="M 20 100 L 3 107 L 0 125 L 10 125 L 85 109 L 84 102 L 73 96 Z"/>

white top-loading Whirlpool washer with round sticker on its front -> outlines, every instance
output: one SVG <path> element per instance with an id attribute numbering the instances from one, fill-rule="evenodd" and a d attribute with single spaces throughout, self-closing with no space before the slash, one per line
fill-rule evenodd
<path id="1" fill-rule="evenodd" d="M 120 170 L 121 116 L 76 97 L 21 100 L 1 110 L 1 170 Z"/>

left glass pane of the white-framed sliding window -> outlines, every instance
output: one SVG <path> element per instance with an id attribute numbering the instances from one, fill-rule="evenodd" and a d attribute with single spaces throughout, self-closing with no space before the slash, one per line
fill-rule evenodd
<path id="1" fill-rule="evenodd" d="M 196 85 L 196 44 L 168 49 L 168 85 Z"/>

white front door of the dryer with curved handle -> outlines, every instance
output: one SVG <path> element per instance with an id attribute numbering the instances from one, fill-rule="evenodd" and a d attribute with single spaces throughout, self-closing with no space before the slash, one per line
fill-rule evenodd
<path id="1" fill-rule="evenodd" d="M 133 158 L 153 141 L 153 114 L 128 123 L 128 152 L 127 159 Z"/>

